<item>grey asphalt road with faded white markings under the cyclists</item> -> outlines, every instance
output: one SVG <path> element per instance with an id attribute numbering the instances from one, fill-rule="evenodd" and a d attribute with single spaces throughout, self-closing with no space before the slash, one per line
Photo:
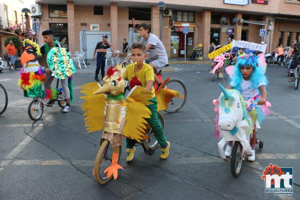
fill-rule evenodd
<path id="1" fill-rule="evenodd" d="M 262 123 L 254 162 L 244 161 L 240 175 L 230 173 L 230 162 L 219 157 L 213 136 L 212 99 L 220 94 L 211 81 L 209 65 L 172 64 L 163 77 L 180 78 L 187 86 L 187 102 L 176 113 L 162 112 L 170 155 L 159 158 L 137 147 L 130 164 L 123 145 L 116 180 L 99 185 L 92 177 L 101 132 L 86 133 L 79 87 L 93 81 L 93 64 L 74 74 L 75 99 L 69 113 L 58 105 L 46 107 L 41 120 L 27 114 L 30 98 L 16 86 L 18 71 L 3 70 L 0 83 L 9 103 L 0 115 L 0 199 L 300 199 L 300 90 L 287 82 L 284 67 L 267 69 L 267 100 L 271 115 Z M 54 83 L 53 83 L 54 85 Z M 124 141 L 124 140 L 123 140 Z M 123 143 L 124 144 L 124 143 Z M 260 178 L 269 163 L 293 167 L 293 195 L 264 192 Z"/>

